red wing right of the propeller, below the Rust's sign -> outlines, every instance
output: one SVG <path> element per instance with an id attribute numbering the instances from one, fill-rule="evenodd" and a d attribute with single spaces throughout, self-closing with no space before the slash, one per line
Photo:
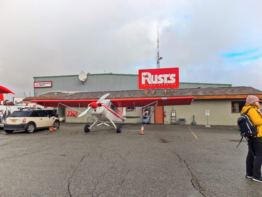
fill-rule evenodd
<path id="1" fill-rule="evenodd" d="M 158 106 L 165 105 L 190 105 L 195 97 L 168 97 L 168 98 L 138 98 L 138 99 L 111 99 L 116 107 L 143 107 L 150 103 L 153 106 L 158 102 Z"/>

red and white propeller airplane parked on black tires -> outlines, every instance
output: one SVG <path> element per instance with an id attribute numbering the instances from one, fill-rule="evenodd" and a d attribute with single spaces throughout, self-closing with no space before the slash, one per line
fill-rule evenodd
<path id="1" fill-rule="evenodd" d="M 138 99 L 105 99 L 108 94 L 103 95 L 98 100 L 31 100 L 31 102 L 46 106 L 57 107 L 60 104 L 66 107 L 87 107 L 84 112 L 78 116 L 83 116 L 87 112 L 90 112 L 96 119 L 91 125 L 85 125 L 84 131 L 87 133 L 94 126 L 106 125 L 108 121 L 112 123 L 117 133 L 122 130 L 126 118 L 138 118 L 138 116 L 130 116 L 135 111 L 142 111 L 143 107 L 148 106 L 165 106 L 165 105 L 190 105 L 193 102 L 194 97 L 167 97 L 167 98 L 138 98 Z M 125 112 L 125 107 L 141 107 L 128 114 Z M 120 110 L 118 108 L 121 108 Z M 75 110 L 75 109 L 74 109 Z M 78 111 L 78 110 L 77 110 Z M 86 114 L 87 115 L 87 114 Z M 89 115 L 88 115 L 89 116 Z M 115 125 L 114 122 L 121 122 L 119 125 Z"/>

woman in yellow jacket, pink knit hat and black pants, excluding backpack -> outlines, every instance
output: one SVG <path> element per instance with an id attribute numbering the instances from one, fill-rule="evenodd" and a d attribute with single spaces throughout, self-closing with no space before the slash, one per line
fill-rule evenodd
<path id="1" fill-rule="evenodd" d="M 259 111 L 259 99 L 256 96 L 249 95 L 246 104 L 243 107 L 241 114 L 251 108 L 247 115 L 252 124 L 256 126 L 258 131 L 257 136 L 248 140 L 248 154 L 246 159 L 246 177 L 252 178 L 253 181 L 262 183 L 261 165 L 262 165 L 262 115 Z"/>

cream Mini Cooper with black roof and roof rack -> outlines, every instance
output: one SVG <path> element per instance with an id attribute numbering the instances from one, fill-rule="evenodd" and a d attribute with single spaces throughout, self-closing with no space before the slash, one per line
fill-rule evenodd
<path id="1" fill-rule="evenodd" d="M 33 133 L 36 129 L 49 128 L 51 126 L 59 128 L 59 119 L 51 117 L 41 108 L 23 108 L 19 111 L 14 111 L 7 118 L 4 124 L 4 131 L 12 133 L 16 130 L 25 130 L 26 133 Z"/>

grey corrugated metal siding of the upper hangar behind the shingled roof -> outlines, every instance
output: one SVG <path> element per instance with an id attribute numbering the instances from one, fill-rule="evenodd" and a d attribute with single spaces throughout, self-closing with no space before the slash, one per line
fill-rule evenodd
<path id="1" fill-rule="evenodd" d="M 34 96 L 39 96 L 45 92 L 55 90 L 87 92 L 138 90 L 138 76 L 132 75 L 88 75 L 84 84 L 82 84 L 78 76 L 35 78 L 35 81 L 52 81 L 52 88 L 35 88 Z M 207 88 L 229 86 L 200 83 L 179 84 L 179 89 L 198 87 Z"/>

